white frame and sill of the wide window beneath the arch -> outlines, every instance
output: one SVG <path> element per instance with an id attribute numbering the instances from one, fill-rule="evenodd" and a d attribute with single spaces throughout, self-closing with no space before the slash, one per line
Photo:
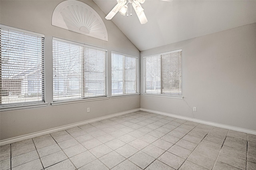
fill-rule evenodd
<path id="1" fill-rule="evenodd" d="M 87 101 L 98 101 L 98 100 L 105 100 L 105 99 L 109 99 L 110 97 L 108 97 L 108 50 L 107 49 L 103 49 L 100 47 L 94 47 L 91 45 L 86 45 L 83 43 L 78 43 L 78 42 L 73 42 L 70 40 L 65 40 L 65 39 L 61 39 L 61 38 L 56 38 L 56 37 L 52 37 L 52 49 L 53 47 L 53 40 L 56 41 L 60 41 L 60 42 L 66 42 L 66 43 L 70 43 L 70 44 L 74 44 L 74 45 L 79 45 L 82 47 L 88 47 L 88 48 L 92 48 L 92 49 L 98 49 L 98 50 L 102 50 L 105 51 L 106 53 L 106 95 L 102 95 L 102 96 L 92 96 L 92 97 L 81 97 L 81 98 L 73 98 L 73 99 L 63 99 L 63 100 L 55 100 L 54 101 L 54 96 L 53 96 L 53 101 L 51 103 L 52 106 L 54 105 L 64 105 L 64 104 L 70 104 L 70 103 L 80 103 L 80 102 L 87 102 Z M 83 53 L 84 54 L 84 53 Z M 52 61 L 54 59 L 53 53 L 52 53 Z M 83 63 L 84 65 L 85 63 Z M 52 65 L 52 70 L 54 69 L 54 63 Z M 84 79 L 84 73 L 82 73 L 83 75 L 83 79 Z M 54 95 L 54 75 L 52 75 L 52 95 Z"/>

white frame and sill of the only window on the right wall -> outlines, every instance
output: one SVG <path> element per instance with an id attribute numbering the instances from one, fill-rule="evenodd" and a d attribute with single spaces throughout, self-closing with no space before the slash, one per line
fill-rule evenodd
<path id="1" fill-rule="evenodd" d="M 166 97 L 166 98 L 175 98 L 175 99 L 183 99 L 182 96 L 182 77 L 181 77 L 181 95 L 172 95 L 172 94 L 163 94 L 162 93 L 162 68 L 160 67 L 160 93 L 146 93 L 146 73 L 145 73 L 145 58 L 147 57 L 161 57 L 162 55 L 166 55 L 166 54 L 171 54 L 171 53 L 175 53 L 175 52 L 181 52 L 182 53 L 182 49 L 177 49 L 177 50 L 173 50 L 173 51 L 168 51 L 168 52 L 164 52 L 164 53 L 158 53 L 158 54 L 154 54 L 154 55 L 148 55 L 148 56 L 144 56 L 143 57 L 143 93 L 142 95 L 144 96 L 155 96 L 155 97 Z M 181 76 L 182 76 L 182 54 L 181 54 Z"/>

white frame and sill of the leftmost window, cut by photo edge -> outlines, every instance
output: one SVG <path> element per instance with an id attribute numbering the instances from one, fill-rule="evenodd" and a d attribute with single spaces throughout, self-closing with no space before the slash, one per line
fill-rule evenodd
<path id="1" fill-rule="evenodd" d="M 45 36 L 44 34 L 28 31 L 28 30 L 22 30 L 19 28 L 14 28 L 6 25 L 0 24 L 0 28 L 11 30 L 14 32 L 21 32 L 23 34 L 30 34 L 32 36 L 38 36 L 41 38 L 44 38 L 44 51 L 45 51 Z M 42 53 L 45 53 L 42 51 Z M 46 86 L 45 86 L 45 55 L 42 55 L 42 101 L 28 101 L 28 102 L 19 102 L 19 103 L 9 103 L 0 105 L 0 111 L 9 111 L 9 110 L 16 110 L 16 109 L 26 109 L 26 108 L 33 108 L 33 107 L 44 107 L 47 106 L 48 103 L 45 102 L 46 99 Z"/>

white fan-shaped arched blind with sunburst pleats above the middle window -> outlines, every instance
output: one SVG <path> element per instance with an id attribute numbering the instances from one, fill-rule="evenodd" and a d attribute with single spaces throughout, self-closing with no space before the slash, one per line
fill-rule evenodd
<path id="1" fill-rule="evenodd" d="M 87 4 L 66 0 L 52 14 L 52 25 L 108 41 L 108 33 L 99 14 Z"/>

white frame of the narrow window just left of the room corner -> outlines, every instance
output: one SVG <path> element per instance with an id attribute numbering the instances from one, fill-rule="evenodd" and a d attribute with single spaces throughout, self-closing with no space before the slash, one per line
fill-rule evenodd
<path id="1" fill-rule="evenodd" d="M 112 93 L 112 54 L 117 54 L 117 55 L 122 55 L 122 57 L 132 57 L 132 58 L 135 58 L 137 59 L 137 72 L 136 72 L 136 75 L 137 75 L 137 93 L 124 93 L 124 90 L 125 89 L 122 89 L 123 90 L 123 93 L 122 94 L 113 94 Z M 125 63 L 123 63 L 125 64 Z M 125 68 L 124 68 L 125 69 Z M 123 69 L 123 72 L 124 72 L 124 69 Z M 139 57 L 137 56 L 133 56 L 133 55 L 128 55 L 128 54 L 124 54 L 124 53 L 120 53 L 120 52 L 116 52 L 116 51 L 111 51 L 111 98 L 116 98 L 116 97 L 128 97 L 128 96 L 134 96 L 134 95 L 140 95 L 140 86 L 139 86 L 139 82 L 140 82 L 140 79 L 139 79 Z M 125 77 L 123 77 L 123 80 L 125 81 Z M 125 87 L 124 87 L 125 88 Z"/>

